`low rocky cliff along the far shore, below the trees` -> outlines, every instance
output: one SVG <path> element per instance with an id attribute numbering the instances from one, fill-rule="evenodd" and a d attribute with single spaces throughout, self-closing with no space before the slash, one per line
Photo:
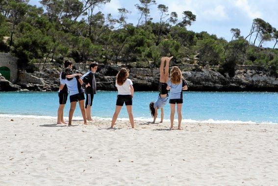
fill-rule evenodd
<path id="1" fill-rule="evenodd" d="M 45 68 L 47 65 L 47 68 Z M 101 64 L 96 73 L 98 90 L 116 90 L 115 76 L 122 66 L 109 66 Z M 186 68 L 186 69 L 185 69 Z M 0 91 L 13 91 L 21 89 L 35 91 L 57 91 L 59 75 L 62 70 L 57 64 L 37 64 L 38 71 L 27 73 L 19 71 L 17 88 L 2 85 Z M 223 76 L 214 69 L 195 68 L 193 66 L 181 67 L 183 77 L 186 79 L 191 91 L 278 91 L 278 78 L 270 76 L 264 69 L 254 69 L 240 66 L 233 78 Z M 76 72 L 87 72 L 86 64 L 76 64 Z M 159 69 L 130 68 L 129 78 L 134 83 L 135 91 L 157 91 Z M 5 81 L 6 82 L 6 81 Z"/>

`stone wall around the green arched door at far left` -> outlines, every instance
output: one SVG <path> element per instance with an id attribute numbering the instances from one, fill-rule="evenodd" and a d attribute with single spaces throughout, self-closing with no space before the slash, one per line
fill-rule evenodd
<path id="1" fill-rule="evenodd" d="M 18 73 L 17 57 L 9 53 L 0 53 L 0 67 L 8 67 L 10 69 L 10 81 L 15 83 Z"/>

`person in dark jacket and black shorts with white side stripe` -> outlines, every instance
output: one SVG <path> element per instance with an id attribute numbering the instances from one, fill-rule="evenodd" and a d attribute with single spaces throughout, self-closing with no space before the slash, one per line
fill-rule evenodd
<path id="1" fill-rule="evenodd" d="M 97 93 L 97 83 L 95 78 L 95 73 L 98 69 L 99 63 L 92 62 L 89 66 L 89 70 L 86 74 L 84 74 L 81 79 L 86 84 L 85 94 L 86 94 L 86 119 L 92 121 L 91 116 L 91 107 L 93 105 L 94 94 Z"/>

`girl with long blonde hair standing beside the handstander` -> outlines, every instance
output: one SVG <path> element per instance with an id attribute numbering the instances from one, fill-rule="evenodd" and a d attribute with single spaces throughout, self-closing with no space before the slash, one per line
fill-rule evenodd
<path id="1" fill-rule="evenodd" d="M 175 105 L 177 104 L 177 116 L 178 116 L 178 126 L 177 129 L 181 130 L 180 124 L 181 124 L 181 108 L 183 103 L 183 97 L 182 97 L 182 90 L 187 90 L 187 84 L 185 80 L 182 77 L 181 71 L 177 66 L 172 67 L 170 79 L 167 82 L 167 90 L 170 90 L 169 94 L 169 103 L 171 108 L 171 114 L 170 114 L 170 121 L 171 121 L 171 127 L 170 129 L 174 129 L 174 116 L 175 116 Z"/>

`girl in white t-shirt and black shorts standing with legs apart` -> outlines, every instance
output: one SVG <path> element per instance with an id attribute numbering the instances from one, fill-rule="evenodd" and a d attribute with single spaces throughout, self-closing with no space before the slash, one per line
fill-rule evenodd
<path id="1" fill-rule="evenodd" d="M 134 121 L 133 121 L 133 113 L 132 113 L 132 98 L 134 89 L 132 86 L 132 81 L 127 79 L 129 76 L 129 73 L 125 68 L 122 68 L 116 77 L 116 87 L 118 89 L 118 98 L 116 102 L 116 109 L 113 115 L 113 119 L 111 122 L 111 128 L 114 128 L 115 122 L 118 118 L 118 115 L 124 106 L 124 103 L 126 104 L 126 110 L 128 113 L 129 121 L 131 124 L 131 127 L 134 128 Z"/>

